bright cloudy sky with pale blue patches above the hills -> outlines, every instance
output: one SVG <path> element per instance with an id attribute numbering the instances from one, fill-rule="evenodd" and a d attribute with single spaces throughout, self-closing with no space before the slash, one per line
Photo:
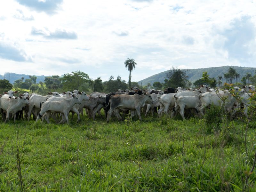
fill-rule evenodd
<path id="1" fill-rule="evenodd" d="M 132 81 L 172 68 L 256 67 L 256 1 L 5 0 L 0 74 Z"/>

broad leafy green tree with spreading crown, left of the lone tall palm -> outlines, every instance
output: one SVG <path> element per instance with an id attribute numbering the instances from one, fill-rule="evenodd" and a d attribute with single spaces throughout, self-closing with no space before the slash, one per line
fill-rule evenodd
<path id="1" fill-rule="evenodd" d="M 64 74 L 60 79 L 64 89 L 88 91 L 90 78 L 82 71 L 72 71 L 71 74 Z"/>

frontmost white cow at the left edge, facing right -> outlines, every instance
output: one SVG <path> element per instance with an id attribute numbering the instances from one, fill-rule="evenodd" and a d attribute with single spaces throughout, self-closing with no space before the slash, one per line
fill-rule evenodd
<path id="1" fill-rule="evenodd" d="M 0 98 L 0 108 L 3 111 L 6 111 L 6 118 L 4 123 L 6 123 L 9 120 L 10 113 L 13 115 L 13 120 L 15 123 L 16 113 L 20 111 L 23 107 L 25 107 L 28 103 L 28 100 L 25 96 L 22 94 L 19 95 L 17 99 L 11 97 L 1 97 Z"/>

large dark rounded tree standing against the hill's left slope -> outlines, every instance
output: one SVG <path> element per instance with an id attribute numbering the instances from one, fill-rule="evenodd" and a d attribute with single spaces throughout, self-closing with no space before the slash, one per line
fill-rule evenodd
<path id="1" fill-rule="evenodd" d="M 175 69 L 172 67 L 166 73 L 166 79 L 164 79 L 164 87 L 185 87 L 187 83 L 186 71 Z"/>

